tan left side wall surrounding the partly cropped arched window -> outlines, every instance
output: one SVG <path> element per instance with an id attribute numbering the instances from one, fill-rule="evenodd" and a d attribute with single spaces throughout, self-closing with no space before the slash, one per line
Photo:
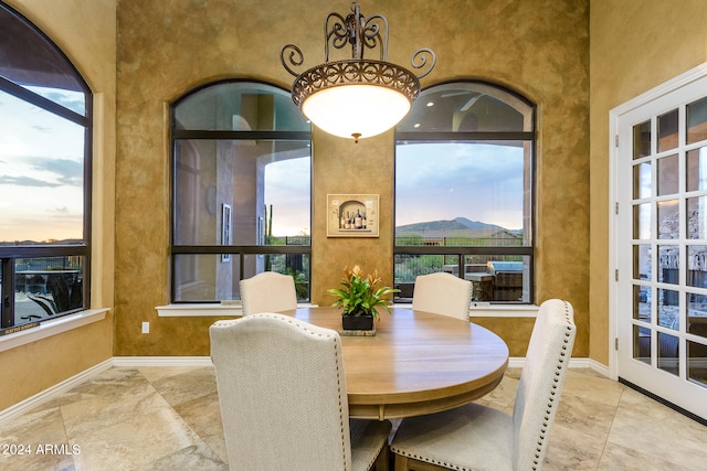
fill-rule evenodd
<path id="1" fill-rule="evenodd" d="M 92 304 L 113 307 L 115 195 L 115 0 L 6 1 L 68 56 L 95 95 Z M 113 356 L 104 321 L 0 353 L 0 409 Z"/>

